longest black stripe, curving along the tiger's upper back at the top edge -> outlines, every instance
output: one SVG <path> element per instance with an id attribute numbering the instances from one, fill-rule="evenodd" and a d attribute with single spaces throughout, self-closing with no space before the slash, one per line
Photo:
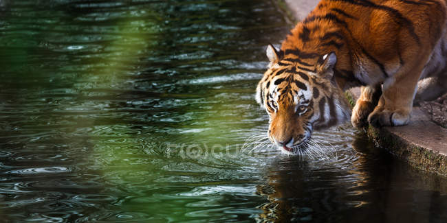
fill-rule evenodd
<path id="1" fill-rule="evenodd" d="M 371 1 L 368 0 L 330 0 L 330 1 L 342 1 L 345 3 L 351 3 L 353 5 L 360 5 L 368 8 L 375 8 L 378 10 L 384 10 L 385 12 L 388 12 L 391 14 L 391 17 L 397 20 L 397 23 L 400 23 L 401 26 L 405 26 L 408 29 L 408 32 L 410 32 L 411 36 L 415 39 L 418 45 L 421 44 L 421 41 L 419 40 L 419 36 L 415 33 L 415 27 L 413 26 L 413 23 L 406 19 L 402 14 L 395 10 L 394 8 L 388 7 L 386 5 L 377 5 Z"/>

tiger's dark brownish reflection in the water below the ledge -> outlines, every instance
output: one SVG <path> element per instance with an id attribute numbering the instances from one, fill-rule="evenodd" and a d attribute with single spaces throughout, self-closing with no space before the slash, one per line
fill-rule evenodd
<path id="1" fill-rule="evenodd" d="M 397 161 L 360 135 L 331 161 L 275 159 L 257 193 L 258 222 L 429 222 L 447 208 L 447 180 Z M 348 152 L 349 153 L 349 152 Z M 350 157 L 349 157 L 350 156 Z M 432 205 L 433 204 L 433 205 Z"/>

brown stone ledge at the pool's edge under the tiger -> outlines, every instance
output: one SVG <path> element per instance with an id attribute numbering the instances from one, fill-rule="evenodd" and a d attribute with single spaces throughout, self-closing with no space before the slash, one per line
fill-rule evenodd
<path id="1" fill-rule="evenodd" d="M 315 8 L 319 0 L 277 0 L 300 21 Z M 350 100 L 360 95 L 351 91 Z M 354 101 L 355 102 L 355 101 Z M 391 154 L 404 159 L 418 169 L 447 176 L 447 129 L 437 126 L 420 108 L 413 108 L 408 126 L 367 129 L 369 137 Z"/>

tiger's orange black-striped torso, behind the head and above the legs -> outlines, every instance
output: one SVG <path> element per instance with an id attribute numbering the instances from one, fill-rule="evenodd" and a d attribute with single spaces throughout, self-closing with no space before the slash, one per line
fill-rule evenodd
<path id="1" fill-rule="evenodd" d="M 281 51 L 337 54 L 337 71 L 376 84 L 433 49 L 444 34 L 445 1 L 323 0 L 287 36 Z M 442 22 L 440 22 L 442 21 Z M 299 54 L 285 58 L 300 58 Z M 307 60 L 306 60 L 307 59 Z M 314 62 L 315 58 L 303 58 Z"/>

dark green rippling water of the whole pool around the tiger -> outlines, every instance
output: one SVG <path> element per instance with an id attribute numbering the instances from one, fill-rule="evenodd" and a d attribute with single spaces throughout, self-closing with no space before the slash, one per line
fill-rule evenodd
<path id="1" fill-rule="evenodd" d="M 272 1 L 1 0 L 0 16 L 1 222 L 446 222 L 446 178 L 349 125 L 315 134 L 324 156 L 263 141 L 264 47 L 290 28 Z"/>

